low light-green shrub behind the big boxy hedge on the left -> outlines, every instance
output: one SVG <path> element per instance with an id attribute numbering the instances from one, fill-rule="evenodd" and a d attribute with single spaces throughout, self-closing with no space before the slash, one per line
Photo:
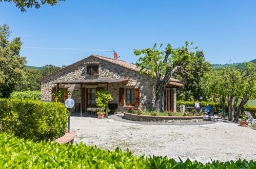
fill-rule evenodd
<path id="1" fill-rule="evenodd" d="M 10 95 L 10 98 L 40 100 L 41 92 L 38 92 L 38 91 L 12 92 Z"/>

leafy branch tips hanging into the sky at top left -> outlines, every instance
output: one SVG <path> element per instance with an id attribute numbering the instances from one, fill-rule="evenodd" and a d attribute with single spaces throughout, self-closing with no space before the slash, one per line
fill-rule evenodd
<path id="1" fill-rule="evenodd" d="M 19 9 L 21 9 L 22 12 L 26 11 L 25 8 L 35 7 L 40 8 L 41 5 L 58 5 L 61 1 L 66 0 L 0 0 L 0 2 L 10 2 L 16 5 Z"/>

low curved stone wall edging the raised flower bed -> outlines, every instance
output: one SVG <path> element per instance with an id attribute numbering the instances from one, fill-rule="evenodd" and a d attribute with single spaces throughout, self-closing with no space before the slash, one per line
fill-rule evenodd
<path id="1" fill-rule="evenodd" d="M 146 116 L 124 113 L 124 118 L 132 121 L 147 121 L 147 122 L 201 122 L 203 116 Z"/>

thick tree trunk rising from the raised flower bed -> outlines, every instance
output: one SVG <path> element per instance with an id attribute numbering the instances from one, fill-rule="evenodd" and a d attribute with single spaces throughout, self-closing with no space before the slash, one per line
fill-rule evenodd
<path id="1" fill-rule="evenodd" d="M 164 112 L 164 104 L 163 104 L 163 99 L 164 99 L 164 93 L 165 93 L 165 86 L 159 86 L 156 87 L 155 89 L 155 110 L 156 112 Z"/>

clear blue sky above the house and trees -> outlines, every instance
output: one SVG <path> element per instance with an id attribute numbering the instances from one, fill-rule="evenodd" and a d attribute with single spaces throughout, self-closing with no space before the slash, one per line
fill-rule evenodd
<path id="1" fill-rule="evenodd" d="M 21 36 L 30 66 L 70 65 L 90 54 L 135 62 L 133 49 L 194 41 L 211 64 L 256 58 L 256 1 L 85 1 L 21 12 L 0 3 L 0 24 Z M 53 49 L 51 49 L 53 48 Z M 99 51 L 96 51 L 99 50 Z"/>

